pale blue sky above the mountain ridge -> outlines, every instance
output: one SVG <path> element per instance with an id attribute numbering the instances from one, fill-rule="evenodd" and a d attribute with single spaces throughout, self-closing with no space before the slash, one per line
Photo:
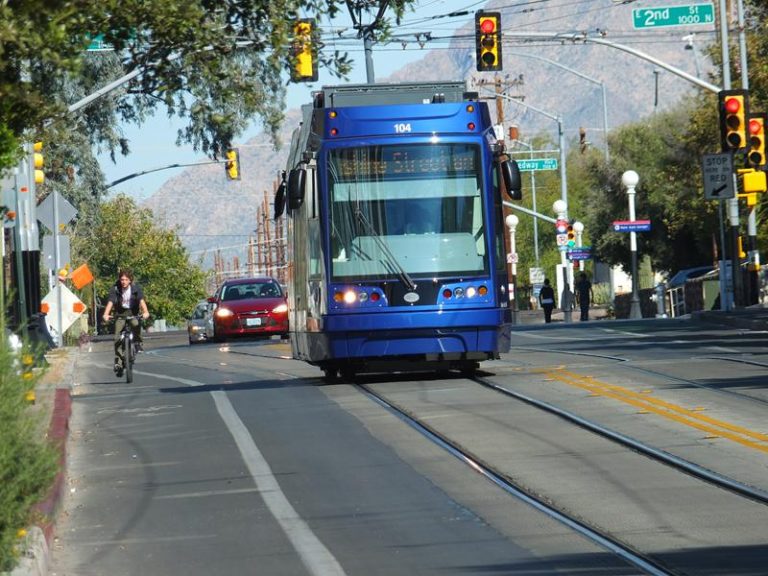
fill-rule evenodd
<path id="1" fill-rule="evenodd" d="M 386 46 L 374 46 L 373 63 L 376 80 L 390 75 L 403 65 L 418 60 L 424 56 L 429 49 L 430 44 L 426 43 L 422 49 L 416 40 L 417 33 L 432 32 L 440 36 L 449 36 L 452 32 L 473 19 L 473 15 L 461 17 L 437 17 L 452 12 L 468 10 L 471 13 L 480 9 L 485 1 L 473 2 L 471 0 L 419 0 L 415 4 L 414 12 L 407 12 L 403 21 L 403 26 L 395 31 L 396 34 L 407 34 L 403 36 L 406 42 L 405 48 L 398 41 L 396 44 Z M 324 22 L 321 25 L 324 29 L 329 26 L 344 28 L 349 24 L 349 18 L 344 13 L 344 18 L 338 18 L 329 23 Z M 410 32 L 412 31 L 412 33 Z M 349 37 L 350 31 L 347 30 L 345 36 Z M 328 47 L 333 49 L 333 44 Z M 442 44 L 443 46 L 445 43 Z M 365 56 L 363 53 L 362 40 L 339 41 L 336 46 L 341 51 L 349 52 L 354 60 L 354 69 L 349 77 L 350 83 L 365 83 Z M 312 84 L 291 84 L 288 87 L 288 108 L 297 108 L 301 104 L 309 101 L 310 94 L 323 85 L 338 83 L 339 80 L 324 71 L 320 70 L 320 79 Z M 102 170 L 106 175 L 107 182 L 117 180 L 123 176 L 160 168 L 168 164 L 184 164 L 202 162 L 207 158 L 202 154 L 196 154 L 190 146 L 176 146 L 176 132 L 183 122 L 179 119 L 169 119 L 164 113 L 160 113 L 150 122 L 141 127 L 126 126 L 124 132 L 130 140 L 132 153 L 127 157 L 118 157 L 117 163 L 113 163 L 109 156 L 104 154 L 99 156 Z M 245 142 L 261 131 L 256 125 L 245 133 L 239 140 Z M 147 196 L 153 194 L 163 183 L 178 175 L 186 168 L 172 168 L 161 170 L 152 174 L 138 176 L 127 180 L 112 188 L 112 193 L 124 192 L 133 198 L 141 201 Z M 223 168 L 222 168 L 223 169 Z"/>

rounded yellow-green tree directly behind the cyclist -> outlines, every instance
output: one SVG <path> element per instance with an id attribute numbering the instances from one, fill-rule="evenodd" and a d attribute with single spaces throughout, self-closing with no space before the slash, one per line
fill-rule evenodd
<path id="1" fill-rule="evenodd" d="M 102 303 L 118 271 L 130 268 L 144 287 L 151 314 L 175 324 L 206 295 L 206 274 L 190 263 L 176 233 L 156 227 L 153 218 L 151 210 L 119 195 L 101 205 L 98 224 L 73 242 L 94 272 Z"/>

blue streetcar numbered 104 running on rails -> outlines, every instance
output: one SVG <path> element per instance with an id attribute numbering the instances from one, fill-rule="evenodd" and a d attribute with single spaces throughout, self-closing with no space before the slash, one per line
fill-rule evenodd
<path id="1" fill-rule="evenodd" d="M 302 109 L 288 216 L 293 356 L 339 373 L 473 372 L 510 346 L 502 190 L 520 173 L 461 82 L 324 87 Z"/>

